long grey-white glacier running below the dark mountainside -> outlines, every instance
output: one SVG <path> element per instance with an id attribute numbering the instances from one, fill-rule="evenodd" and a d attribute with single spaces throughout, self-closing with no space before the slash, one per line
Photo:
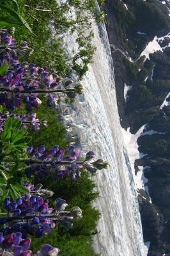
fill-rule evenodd
<path id="1" fill-rule="evenodd" d="M 132 168 L 123 142 L 116 102 L 114 70 L 105 26 L 93 24 L 93 63 L 83 77 L 84 94 L 72 105 L 61 104 L 66 128 L 78 134 L 82 154 L 93 150 L 109 168 L 92 179 L 100 193 L 94 207 L 100 211 L 95 252 L 102 256 L 146 256 L 141 216 Z M 63 47 L 72 56 L 77 51 L 75 36 L 66 34 Z M 77 77 L 73 75 L 73 80 Z"/>

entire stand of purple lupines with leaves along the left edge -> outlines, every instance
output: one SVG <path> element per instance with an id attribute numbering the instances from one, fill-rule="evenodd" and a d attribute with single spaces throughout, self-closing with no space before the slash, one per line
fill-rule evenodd
<path id="1" fill-rule="evenodd" d="M 56 225 L 72 228 L 73 222 L 82 218 L 82 210 L 77 206 L 66 211 L 68 204 L 63 198 L 56 198 L 51 207 L 48 198 L 54 193 L 43 189 L 42 184 L 34 186 L 29 182 L 22 185 L 16 183 L 16 180 L 22 178 L 22 170 L 26 165 L 27 178 L 36 175 L 42 179 L 44 175 L 50 175 L 56 180 L 68 175 L 73 181 L 81 178 L 82 168 L 95 173 L 108 166 L 102 159 L 95 160 L 92 151 L 86 154 L 83 161 L 79 160 L 81 150 L 73 145 L 66 153 L 58 145 L 53 148 L 45 148 L 45 145 L 35 148 L 31 145 L 27 148 L 30 138 L 22 128 L 27 129 L 27 125 L 31 125 L 38 131 L 40 125 L 47 127 L 47 121 L 40 121 L 36 113 L 32 112 L 33 108 L 38 108 L 42 103 L 39 95 L 45 95 L 47 104 L 56 107 L 61 97 L 74 99 L 83 92 L 82 84 L 73 83 L 72 80 L 61 81 L 58 74 L 52 74 L 45 67 L 20 63 L 20 56 L 27 57 L 32 52 L 26 41 L 17 45 L 13 37 L 6 33 L 6 29 L 1 29 L 0 199 L 3 206 L 0 210 L 0 255 L 3 256 L 31 256 L 29 236 L 40 238 L 48 235 Z M 27 115 L 13 113 L 13 109 L 23 105 Z M 4 112 L 4 109 L 8 109 L 8 112 Z M 14 176 L 18 174 L 21 176 L 15 180 Z M 58 248 L 44 244 L 34 255 L 58 256 L 58 253 Z"/>

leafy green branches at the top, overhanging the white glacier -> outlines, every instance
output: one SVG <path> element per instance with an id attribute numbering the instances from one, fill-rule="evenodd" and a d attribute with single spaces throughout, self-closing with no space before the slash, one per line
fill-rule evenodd
<path id="1" fill-rule="evenodd" d="M 104 20 L 103 12 L 96 9 L 95 1 L 66 1 L 60 6 L 54 0 L 18 0 L 18 4 L 20 15 L 27 20 L 34 33 L 31 35 L 20 26 L 15 35 L 18 42 L 26 40 L 33 48 L 34 53 L 29 56 L 28 61 L 45 66 L 58 75 L 70 76 L 74 70 L 82 77 L 88 70 L 95 51 L 91 44 L 91 24 L 94 20 Z M 70 8 L 73 15 L 70 15 Z M 6 18 L 6 12 L 3 10 L 3 18 Z M 50 29 L 55 32 L 52 34 Z M 72 55 L 61 47 L 65 33 L 73 35 L 77 42 L 77 51 Z"/>

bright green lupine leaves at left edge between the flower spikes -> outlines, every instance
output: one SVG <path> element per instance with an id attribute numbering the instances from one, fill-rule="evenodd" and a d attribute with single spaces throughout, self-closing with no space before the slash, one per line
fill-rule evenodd
<path id="1" fill-rule="evenodd" d="M 29 141 L 27 132 L 21 129 L 20 121 L 13 117 L 8 118 L 0 136 L 0 184 L 3 184 L 0 201 L 8 193 L 15 200 L 20 193 L 27 192 L 19 183 L 23 177 L 22 159 L 26 158 Z"/>

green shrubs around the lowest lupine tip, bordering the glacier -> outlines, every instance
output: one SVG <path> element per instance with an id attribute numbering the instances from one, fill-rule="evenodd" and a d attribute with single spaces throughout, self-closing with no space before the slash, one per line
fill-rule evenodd
<path id="1" fill-rule="evenodd" d="M 98 194 L 94 191 L 95 184 L 89 179 L 88 173 L 82 172 L 82 178 L 77 182 L 72 182 L 68 178 L 57 180 L 57 182 L 49 180 L 43 182 L 45 186 L 54 191 L 53 199 L 58 195 L 66 199 L 69 207 L 79 205 L 83 212 L 83 218 L 77 223 L 73 223 L 71 230 L 58 227 L 52 230 L 49 236 L 33 239 L 31 243 L 33 250 L 40 247 L 40 243 L 49 243 L 57 245 L 63 256 L 95 256 L 90 244 L 92 235 L 96 232 L 99 214 L 96 209 L 91 207 L 91 202 Z"/>

